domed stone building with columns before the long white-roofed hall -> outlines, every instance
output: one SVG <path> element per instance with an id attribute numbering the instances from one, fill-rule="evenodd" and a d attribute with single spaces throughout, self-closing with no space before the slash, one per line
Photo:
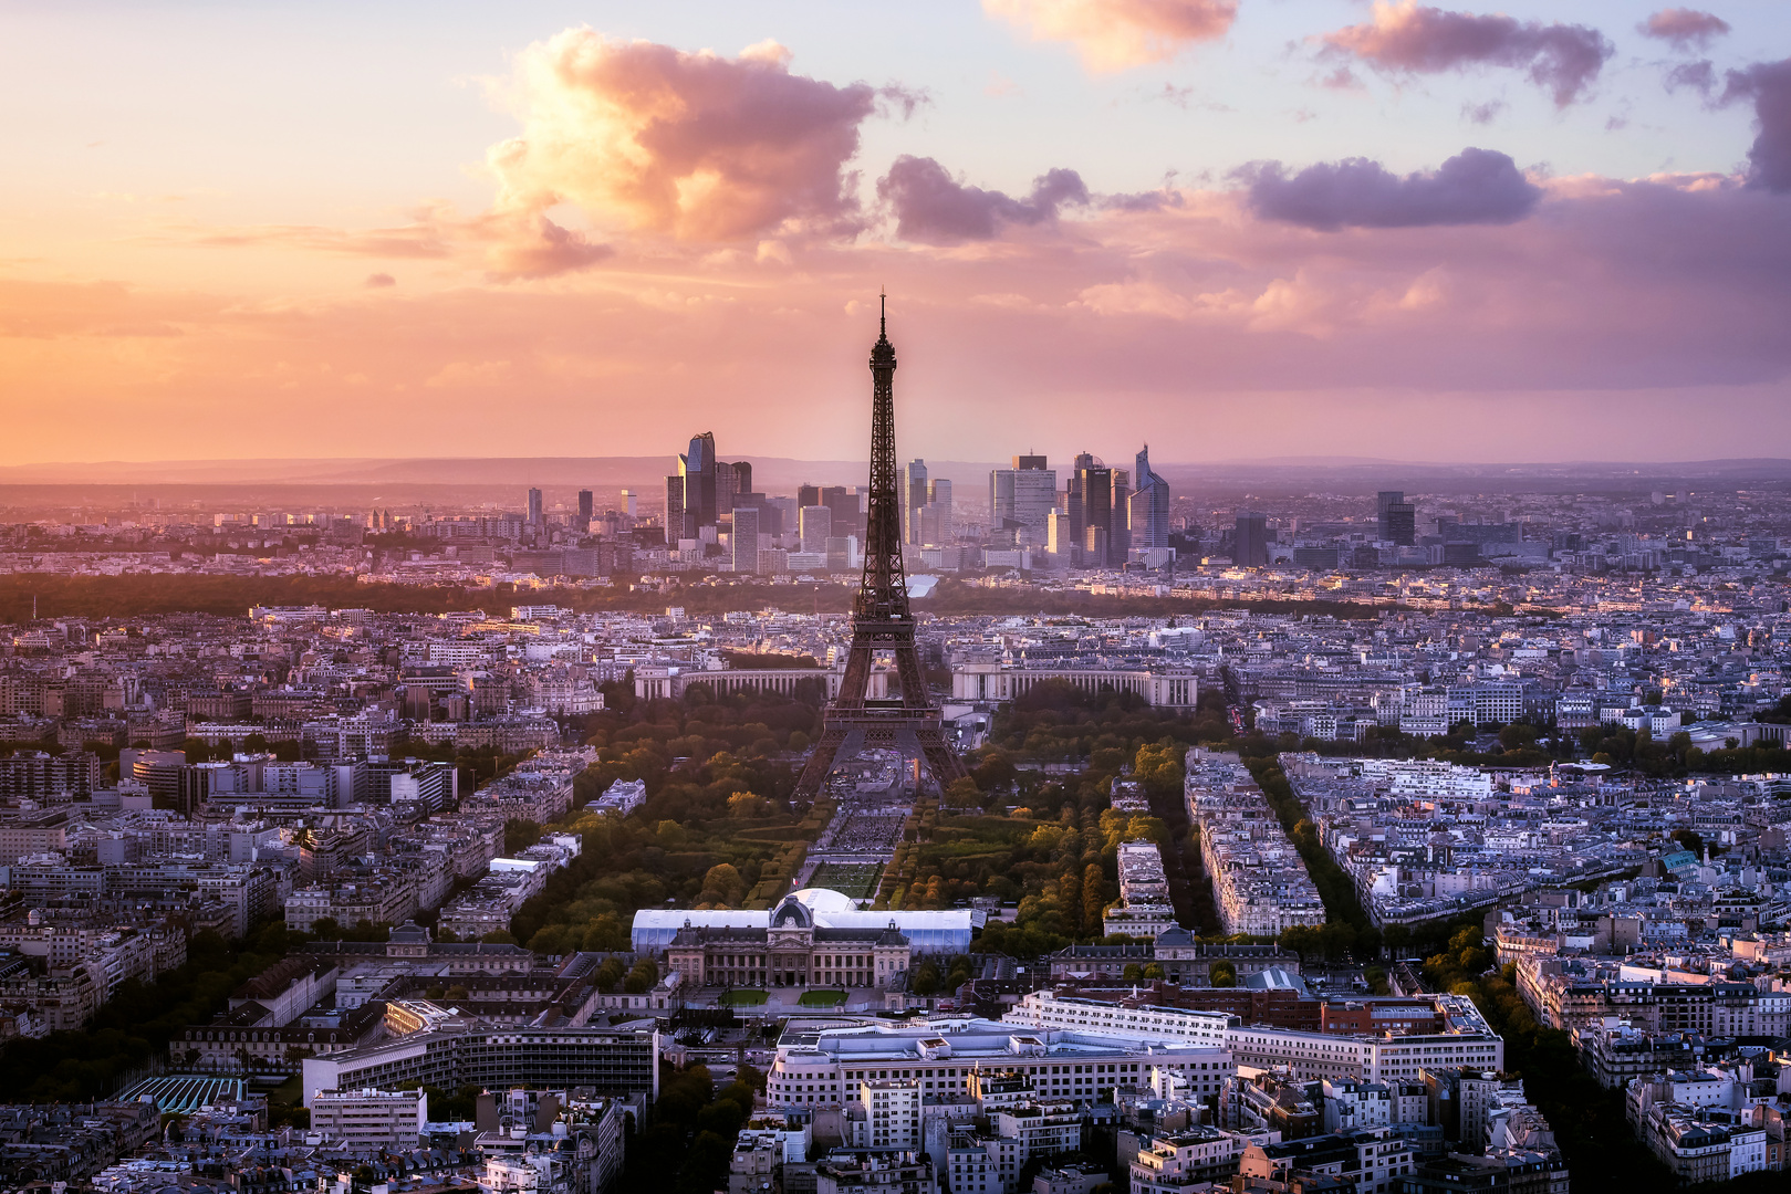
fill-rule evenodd
<path id="1" fill-rule="evenodd" d="M 808 895 L 810 900 L 801 897 Z M 887 988 L 908 968 L 908 938 L 885 927 L 815 924 L 815 891 L 793 891 L 765 927 L 698 925 L 690 918 L 666 945 L 666 968 L 682 986 L 844 986 Z M 826 891 L 820 895 L 836 895 Z M 827 900 L 822 900 L 827 902 Z M 847 900 L 849 904 L 849 900 Z M 761 913 L 763 915 L 763 913 Z"/>

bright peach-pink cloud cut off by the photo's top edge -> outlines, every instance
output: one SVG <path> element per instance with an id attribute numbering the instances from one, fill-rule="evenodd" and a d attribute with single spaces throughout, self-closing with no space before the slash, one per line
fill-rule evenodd
<path id="1" fill-rule="evenodd" d="M 1238 0 L 983 0 L 1033 41 L 1067 41 L 1093 72 L 1166 63 L 1196 41 L 1223 38 Z"/>

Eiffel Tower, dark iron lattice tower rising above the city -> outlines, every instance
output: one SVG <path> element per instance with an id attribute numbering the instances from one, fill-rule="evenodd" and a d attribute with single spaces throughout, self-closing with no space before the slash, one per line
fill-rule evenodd
<path id="1" fill-rule="evenodd" d="M 901 562 L 901 507 L 896 498 L 896 347 L 888 337 L 888 297 L 870 349 L 870 510 L 865 516 L 865 576 L 853 603 L 853 648 L 845 657 L 840 695 L 822 714 L 820 741 L 795 784 L 797 800 L 813 800 L 827 773 L 865 746 L 919 754 L 944 791 L 965 779 L 964 761 L 946 743 L 938 705 L 926 691 L 913 646 L 908 578 Z M 870 700 L 870 664 L 879 652 L 896 655 L 901 696 Z"/>

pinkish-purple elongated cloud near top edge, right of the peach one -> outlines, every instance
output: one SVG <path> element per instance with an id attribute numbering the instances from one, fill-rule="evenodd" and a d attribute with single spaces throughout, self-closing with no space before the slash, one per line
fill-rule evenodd
<path id="1" fill-rule="evenodd" d="M 1386 73 L 1431 75 L 1467 66 L 1528 70 L 1565 107 L 1585 98 L 1615 47 L 1587 25 L 1544 25 L 1510 16 L 1445 13 L 1413 0 L 1375 0 L 1374 20 L 1325 34 L 1327 52 L 1356 57 Z"/>

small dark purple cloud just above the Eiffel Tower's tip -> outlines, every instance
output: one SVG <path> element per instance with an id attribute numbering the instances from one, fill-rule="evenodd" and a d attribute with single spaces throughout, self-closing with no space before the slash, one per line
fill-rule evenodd
<path id="1" fill-rule="evenodd" d="M 903 154 L 878 179 L 878 199 L 896 211 L 903 240 L 955 245 L 992 240 L 1005 224 L 1050 224 L 1058 208 L 1087 204 L 1089 188 L 1075 170 L 1051 170 L 1032 183 L 1032 195 L 1012 199 L 953 179 L 931 158 Z"/>

